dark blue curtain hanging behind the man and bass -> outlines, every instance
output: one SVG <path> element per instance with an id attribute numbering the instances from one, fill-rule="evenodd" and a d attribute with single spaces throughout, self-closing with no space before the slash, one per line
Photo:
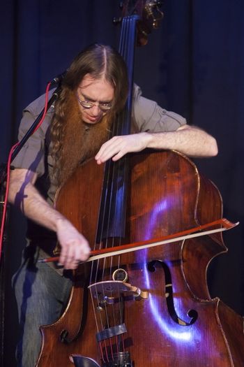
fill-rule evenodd
<path id="1" fill-rule="evenodd" d="M 48 80 L 89 43 L 118 45 L 119 27 L 112 20 L 119 16 L 119 2 L 1 1 L 0 162 L 16 141 L 22 108 L 43 94 Z M 243 315 L 244 2 L 165 0 L 162 10 L 160 29 L 148 36 L 146 47 L 137 49 L 135 82 L 145 96 L 184 115 L 218 141 L 218 157 L 195 163 L 220 189 L 224 217 L 240 225 L 224 233 L 229 252 L 211 262 L 208 285 L 212 296 Z M 10 278 L 20 261 L 23 231 L 24 219 L 12 210 L 6 250 L 8 366 L 15 365 L 17 339 Z"/>

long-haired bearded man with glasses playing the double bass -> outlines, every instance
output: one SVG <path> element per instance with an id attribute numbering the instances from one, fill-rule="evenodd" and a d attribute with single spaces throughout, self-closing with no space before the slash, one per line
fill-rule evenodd
<path id="1" fill-rule="evenodd" d="M 197 157 L 211 157 L 218 152 L 212 136 L 144 99 L 139 87 L 135 87 L 132 106 L 137 134 L 114 136 L 107 141 L 114 116 L 127 98 L 126 80 L 123 59 L 112 48 L 92 45 L 81 52 L 63 79 L 55 106 L 13 161 L 9 201 L 31 220 L 22 266 L 13 279 L 22 326 L 18 366 L 35 365 L 41 344 L 38 327 L 61 315 L 72 286 L 67 270 L 77 268 L 79 261 L 89 257 L 86 238 L 52 206 L 57 187 L 90 157 L 102 164 L 146 147 L 174 149 Z M 42 96 L 24 110 L 20 138 L 42 110 L 43 101 Z M 63 275 L 55 266 L 37 262 L 40 257 L 52 255 L 56 238 L 61 245 Z"/>

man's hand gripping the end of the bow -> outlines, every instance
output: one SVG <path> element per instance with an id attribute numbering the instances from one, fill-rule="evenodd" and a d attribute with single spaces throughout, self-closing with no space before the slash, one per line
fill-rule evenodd
<path id="1" fill-rule="evenodd" d="M 89 257 L 90 247 L 86 238 L 66 219 L 57 221 L 56 234 L 61 245 L 59 263 L 66 269 L 75 269 L 80 261 Z"/>

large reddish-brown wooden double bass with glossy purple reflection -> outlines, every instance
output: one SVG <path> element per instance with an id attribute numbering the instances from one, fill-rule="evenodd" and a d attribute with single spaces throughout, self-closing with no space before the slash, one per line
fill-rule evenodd
<path id="1" fill-rule="evenodd" d="M 145 43 L 162 16 L 158 1 L 137 1 L 125 16 L 128 8 L 119 50 L 130 94 L 114 135 L 130 133 L 135 35 Z M 94 251 L 111 254 L 75 271 L 63 315 L 40 328 L 38 367 L 243 366 L 243 318 L 206 284 L 209 262 L 227 251 L 221 232 L 112 253 L 222 218 L 220 192 L 188 157 L 144 150 L 100 166 L 89 159 L 59 189 L 56 208 Z"/>

